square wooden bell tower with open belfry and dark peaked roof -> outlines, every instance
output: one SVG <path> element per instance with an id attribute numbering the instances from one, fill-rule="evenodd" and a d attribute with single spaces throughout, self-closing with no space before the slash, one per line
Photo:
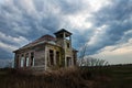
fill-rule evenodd
<path id="1" fill-rule="evenodd" d="M 65 66 L 73 65 L 73 47 L 72 47 L 72 33 L 65 29 L 54 33 L 56 36 L 56 44 L 64 50 Z"/>

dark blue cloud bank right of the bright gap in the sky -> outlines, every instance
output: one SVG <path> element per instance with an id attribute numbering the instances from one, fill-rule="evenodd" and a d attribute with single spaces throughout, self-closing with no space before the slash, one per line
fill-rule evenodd
<path id="1" fill-rule="evenodd" d="M 111 0 L 111 4 L 103 7 L 98 12 L 94 13 L 94 26 L 101 28 L 106 25 L 106 33 L 102 34 L 99 41 L 90 45 L 88 54 L 98 53 L 101 48 L 118 43 L 125 43 L 131 38 L 131 34 L 124 33 L 132 30 L 132 0 Z M 129 37 L 128 37 L 129 36 Z M 92 36 L 91 36 L 92 37 Z M 122 37 L 127 37 L 122 41 Z M 90 51 L 90 52 L 89 52 Z"/>

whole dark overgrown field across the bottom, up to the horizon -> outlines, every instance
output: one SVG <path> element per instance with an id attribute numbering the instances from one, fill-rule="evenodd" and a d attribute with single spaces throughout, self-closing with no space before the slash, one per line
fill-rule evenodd
<path id="1" fill-rule="evenodd" d="M 0 88 L 132 88 L 132 65 L 31 73 L 0 69 Z"/>

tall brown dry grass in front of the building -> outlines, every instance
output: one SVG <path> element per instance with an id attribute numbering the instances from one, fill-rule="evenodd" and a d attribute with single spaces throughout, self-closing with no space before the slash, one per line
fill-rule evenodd
<path id="1" fill-rule="evenodd" d="M 0 77 L 0 88 L 88 88 L 78 69 L 68 68 L 45 73 L 7 69 Z M 1 72 L 2 73 L 2 72 Z"/>

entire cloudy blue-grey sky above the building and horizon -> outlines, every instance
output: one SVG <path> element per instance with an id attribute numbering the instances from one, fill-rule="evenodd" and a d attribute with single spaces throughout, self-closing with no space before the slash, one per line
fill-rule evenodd
<path id="1" fill-rule="evenodd" d="M 132 64 L 132 0 L 0 0 L 0 61 L 66 29 L 73 46 L 110 64 Z"/>

